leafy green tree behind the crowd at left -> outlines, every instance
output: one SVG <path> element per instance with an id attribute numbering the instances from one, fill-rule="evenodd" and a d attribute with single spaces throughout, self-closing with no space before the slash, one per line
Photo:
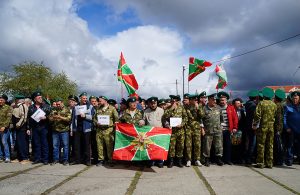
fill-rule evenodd
<path id="1" fill-rule="evenodd" d="M 40 90 L 45 97 L 66 99 L 77 94 L 77 84 L 64 73 L 55 74 L 43 63 L 34 61 L 13 65 L 12 72 L 0 73 L 0 92 L 29 96 Z"/>

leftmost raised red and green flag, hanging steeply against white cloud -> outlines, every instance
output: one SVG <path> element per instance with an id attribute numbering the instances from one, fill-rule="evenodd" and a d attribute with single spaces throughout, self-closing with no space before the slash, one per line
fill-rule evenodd
<path id="1" fill-rule="evenodd" d="M 118 81 L 124 84 L 129 95 L 136 94 L 135 91 L 138 90 L 139 85 L 131 69 L 128 67 L 122 52 L 118 66 Z"/>

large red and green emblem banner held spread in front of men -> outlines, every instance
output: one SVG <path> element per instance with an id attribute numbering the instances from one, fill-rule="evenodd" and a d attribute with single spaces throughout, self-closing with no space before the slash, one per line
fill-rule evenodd
<path id="1" fill-rule="evenodd" d="M 114 160 L 167 160 L 171 130 L 161 127 L 116 124 Z"/>

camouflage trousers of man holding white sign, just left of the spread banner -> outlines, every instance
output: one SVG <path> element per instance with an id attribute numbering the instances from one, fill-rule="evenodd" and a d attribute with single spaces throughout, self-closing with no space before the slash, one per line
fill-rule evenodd
<path id="1" fill-rule="evenodd" d="M 114 129 L 113 127 L 105 130 L 97 129 L 96 142 L 98 150 L 98 160 L 104 160 L 104 152 L 106 152 L 108 160 L 112 160 L 112 153 L 114 148 Z M 106 151 L 104 151 L 104 148 Z"/>

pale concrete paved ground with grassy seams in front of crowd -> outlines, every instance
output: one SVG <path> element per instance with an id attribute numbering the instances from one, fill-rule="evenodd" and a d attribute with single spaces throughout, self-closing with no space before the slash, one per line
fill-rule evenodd
<path id="1" fill-rule="evenodd" d="M 300 165 L 159 169 L 0 163 L 0 194 L 300 194 Z"/>

